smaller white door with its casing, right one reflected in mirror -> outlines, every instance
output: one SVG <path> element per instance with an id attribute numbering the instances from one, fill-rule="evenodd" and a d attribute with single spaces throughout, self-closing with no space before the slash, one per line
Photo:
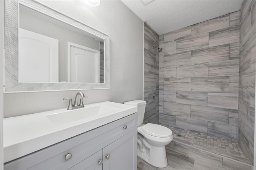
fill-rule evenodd
<path id="1" fill-rule="evenodd" d="M 100 83 L 100 51 L 68 42 L 69 82 Z"/>

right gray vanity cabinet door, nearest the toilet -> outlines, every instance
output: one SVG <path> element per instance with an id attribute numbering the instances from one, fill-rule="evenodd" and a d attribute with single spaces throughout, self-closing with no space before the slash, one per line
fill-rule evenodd
<path id="1" fill-rule="evenodd" d="M 103 148 L 103 160 L 103 170 L 137 170 L 136 129 Z"/>

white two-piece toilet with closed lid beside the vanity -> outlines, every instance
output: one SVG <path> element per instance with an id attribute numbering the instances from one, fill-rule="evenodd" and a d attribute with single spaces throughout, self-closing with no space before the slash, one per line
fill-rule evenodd
<path id="1" fill-rule="evenodd" d="M 168 163 L 165 146 L 173 139 L 172 130 L 152 123 L 142 124 L 146 101 L 134 100 L 124 104 L 138 107 L 138 157 L 158 168 L 166 167 Z"/>

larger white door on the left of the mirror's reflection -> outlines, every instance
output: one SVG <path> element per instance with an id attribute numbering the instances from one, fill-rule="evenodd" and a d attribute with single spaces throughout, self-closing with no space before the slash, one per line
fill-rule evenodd
<path id="1" fill-rule="evenodd" d="M 19 29 L 19 82 L 59 82 L 59 40 Z"/>

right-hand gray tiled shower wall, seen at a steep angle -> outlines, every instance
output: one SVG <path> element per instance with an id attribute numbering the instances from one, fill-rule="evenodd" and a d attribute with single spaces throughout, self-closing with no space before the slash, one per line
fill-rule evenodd
<path id="1" fill-rule="evenodd" d="M 240 10 L 240 71 L 238 143 L 253 160 L 256 57 L 256 1 L 245 0 Z"/>

